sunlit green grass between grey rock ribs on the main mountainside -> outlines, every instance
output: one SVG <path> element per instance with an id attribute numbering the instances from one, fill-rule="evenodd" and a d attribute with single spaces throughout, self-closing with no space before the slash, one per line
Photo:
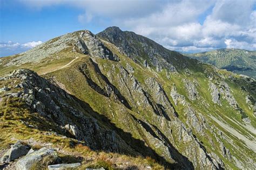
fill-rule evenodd
<path id="1" fill-rule="evenodd" d="M 240 125 L 230 121 L 230 119 L 232 119 L 234 121 L 238 121 L 241 124 L 243 124 L 241 121 L 241 116 L 238 115 L 233 109 L 230 109 L 228 107 L 227 102 L 224 101 L 223 107 L 220 107 L 212 102 L 211 95 L 210 95 L 210 93 L 208 93 L 208 81 L 206 81 L 207 79 L 206 79 L 205 74 L 201 73 L 201 69 L 198 72 L 196 71 L 196 69 L 194 69 L 192 76 L 188 76 L 185 73 L 181 73 L 181 74 L 167 73 L 167 74 L 171 75 L 170 79 L 168 79 L 166 76 L 166 72 L 167 72 L 166 70 L 163 70 L 163 72 L 157 73 L 154 71 L 154 69 L 146 69 L 146 68 L 138 65 L 138 63 L 135 63 L 132 60 L 130 60 L 129 58 L 126 58 L 125 56 L 119 54 L 117 52 L 116 48 L 113 47 L 111 44 L 106 44 L 106 45 L 109 46 L 109 48 L 114 53 L 118 54 L 118 56 L 120 58 L 119 63 L 123 67 L 126 67 L 126 63 L 129 63 L 129 65 L 134 68 L 134 76 L 136 76 L 138 81 L 141 84 L 143 84 L 143 86 L 145 86 L 144 80 L 147 77 L 156 77 L 157 81 L 163 85 L 167 96 L 170 98 L 170 101 L 172 101 L 172 98 L 170 97 L 170 91 L 171 91 L 173 83 L 176 84 L 178 92 L 181 95 L 184 95 L 187 99 L 187 94 L 184 90 L 184 84 L 181 80 L 184 78 L 191 79 L 191 80 L 196 79 L 198 81 L 199 87 L 200 87 L 200 88 L 198 88 L 200 96 L 202 96 L 204 101 L 206 103 L 209 103 L 210 106 L 206 107 L 205 105 L 202 105 L 201 101 L 190 102 L 190 104 L 193 106 L 193 108 L 195 108 L 198 112 L 201 112 L 201 114 L 203 114 L 207 118 L 207 123 L 210 123 L 210 125 L 212 124 L 212 125 L 216 126 L 218 129 L 224 131 L 225 134 L 228 137 L 230 137 L 236 145 L 239 146 L 239 149 L 233 148 L 232 144 L 229 144 L 223 140 L 225 146 L 227 146 L 227 148 L 229 148 L 231 150 L 232 155 L 239 158 L 240 160 L 243 160 L 243 158 L 242 158 L 243 153 L 247 153 L 255 161 L 255 157 L 254 157 L 255 154 L 251 150 L 248 150 L 248 148 L 246 148 L 244 145 L 241 145 L 240 140 L 238 140 L 237 138 L 232 136 L 228 131 L 223 129 L 221 126 L 219 126 L 216 122 L 214 122 L 210 118 L 210 115 L 213 115 L 215 117 L 219 116 L 219 117 L 223 118 L 225 122 L 230 124 L 232 127 L 237 129 L 239 132 L 241 132 L 245 136 L 249 136 L 249 134 L 251 134 L 255 138 L 255 134 L 251 133 L 250 131 L 245 129 L 243 126 L 240 126 Z M 46 70 L 52 70 L 52 69 L 58 68 L 62 65 L 65 65 L 66 63 L 70 62 L 73 59 L 73 58 L 71 58 L 73 56 L 81 56 L 81 58 L 78 61 L 76 61 L 75 63 L 72 64 L 72 67 L 57 70 L 56 72 L 49 73 L 48 75 L 56 77 L 56 79 L 58 81 L 62 82 L 65 85 L 65 88 L 68 89 L 68 91 L 70 91 L 71 94 L 75 95 L 80 100 L 83 100 L 83 101 L 86 101 L 87 103 L 89 103 L 90 107 L 92 107 L 93 110 L 109 117 L 112 120 L 112 122 L 118 126 L 118 128 L 121 128 L 124 131 L 130 132 L 130 133 L 132 133 L 134 138 L 140 139 L 140 135 L 138 134 L 138 129 L 134 127 L 134 122 L 132 121 L 132 119 L 127 118 L 127 117 L 129 117 L 127 115 L 132 114 L 132 115 L 136 116 L 137 118 L 140 118 L 140 117 L 142 117 L 142 115 L 137 114 L 137 111 L 138 110 L 143 111 L 143 109 L 140 109 L 140 108 L 138 108 L 138 110 L 137 109 L 134 109 L 134 110 L 126 109 L 125 107 L 122 106 L 121 103 L 116 103 L 116 101 L 113 98 L 107 98 L 103 95 L 96 93 L 95 90 L 91 89 L 89 84 L 86 83 L 84 77 L 77 71 L 77 67 L 80 63 L 83 63 L 83 62 L 86 63 L 87 68 L 88 68 L 87 70 L 89 70 L 90 75 L 91 75 L 91 79 L 93 81 L 97 82 L 97 84 L 101 88 L 103 88 L 104 82 L 101 82 L 102 80 L 100 80 L 99 75 L 97 75 L 95 73 L 95 71 L 93 70 L 94 68 L 91 64 L 90 59 L 87 56 L 84 56 L 81 54 L 74 55 L 72 53 L 68 53 L 68 54 L 65 53 L 60 56 L 62 56 L 62 57 L 59 61 L 62 61 L 62 62 L 59 62 L 58 60 L 56 60 L 56 61 L 53 60 L 54 62 L 50 62 L 48 60 L 46 62 L 39 63 L 37 66 L 27 64 L 27 65 L 18 66 L 17 68 L 30 68 L 32 70 L 36 70 L 38 73 L 44 73 Z M 104 68 L 102 70 L 102 72 L 105 76 L 107 76 L 107 73 L 112 69 L 112 65 L 119 64 L 117 62 L 113 62 L 110 60 L 103 60 L 103 59 L 97 59 L 97 62 L 99 63 L 100 66 L 102 66 Z M 49 65 L 49 63 L 50 63 L 50 65 Z M 212 68 L 207 65 L 204 65 L 203 67 L 207 67 L 209 69 L 208 72 L 214 72 L 214 70 L 212 70 Z M 117 68 L 117 67 L 115 67 L 115 68 Z M 13 69 L 16 69 L 16 68 L 12 68 L 12 67 L 1 68 L 0 75 L 4 75 Z M 223 72 L 223 71 L 221 71 L 221 72 Z M 116 73 L 119 73 L 118 69 L 116 69 Z M 230 74 L 230 73 L 227 72 L 226 74 Z M 117 81 L 118 80 L 112 79 L 111 83 L 113 83 L 119 89 L 119 91 L 122 91 L 121 87 L 118 87 Z M 70 83 L 70 82 L 72 82 L 72 83 Z M 239 106 L 245 111 L 246 115 L 251 118 L 252 126 L 254 126 L 254 128 L 255 128 L 256 123 L 255 123 L 255 118 L 253 116 L 252 110 L 247 108 L 245 100 L 243 100 L 243 98 L 245 98 L 246 94 L 240 93 L 241 92 L 240 87 L 237 86 L 236 84 L 234 84 L 228 80 L 227 80 L 227 83 L 231 87 L 231 89 L 233 91 L 233 95 L 236 98 L 236 100 L 238 101 Z M 189 101 L 189 100 L 187 99 L 187 101 Z M 181 107 L 180 105 L 175 106 L 175 108 L 176 108 L 177 112 L 179 113 L 179 118 L 181 119 L 181 121 L 186 123 L 186 116 L 183 114 L 184 108 Z M 120 114 L 120 113 L 122 113 L 122 114 Z M 145 111 L 143 112 L 143 116 L 145 116 L 149 122 L 153 123 L 153 120 L 150 120 L 150 116 L 147 115 L 147 113 Z M 129 125 L 129 124 L 130 124 L 130 127 L 127 128 L 127 125 Z M 24 131 L 24 132 L 26 132 L 26 131 Z M 29 132 L 29 133 L 31 133 L 31 132 Z M 194 132 L 194 133 L 196 134 L 196 132 Z M 28 133 L 22 134 L 22 136 L 19 136 L 18 138 L 23 138 L 27 134 Z M 36 134 L 38 134 L 38 133 L 36 133 Z M 196 135 L 199 138 L 199 140 L 204 143 L 208 152 L 212 152 L 212 151 L 215 152 L 221 159 L 223 159 L 223 161 L 225 162 L 226 165 L 228 165 L 231 168 L 235 168 L 232 162 L 228 161 L 226 158 L 223 158 L 223 156 L 220 154 L 219 144 L 217 143 L 216 140 L 213 141 L 214 146 L 212 146 L 212 144 L 210 144 L 208 137 L 214 139 L 212 132 L 207 130 L 206 134 L 204 136 L 201 136 L 200 134 L 196 134 Z M 3 137 L 4 136 L 9 137 L 8 140 L 10 140 L 9 133 L 3 134 Z M 37 139 L 36 136 L 33 136 L 33 133 L 31 133 L 31 135 L 29 135 L 29 136 L 30 137 L 32 136 Z M 3 141 L 3 139 L 2 139 L 2 141 Z M 4 141 L 7 141 L 7 139 L 4 139 Z M 179 147 L 180 148 L 178 148 L 178 149 L 181 151 L 182 146 L 179 146 Z M 238 152 L 238 150 L 242 150 L 243 152 Z M 246 162 L 246 160 L 244 160 L 244 163 L 245 162 Z"/>

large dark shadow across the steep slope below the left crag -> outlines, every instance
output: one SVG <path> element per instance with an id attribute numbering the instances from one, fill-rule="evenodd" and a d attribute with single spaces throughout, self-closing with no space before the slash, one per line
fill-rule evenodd
<path id="1" fill-rule="evenodd" d="M 51 83 L 50 81 L 46 80 L 43 77 L 40 77 L 37 75 L 34 77 L 35 77 L 35 80 L 34 80 L 34 84 L 32 85 L 33 87 L 38 87 L 39 89 L 45 89 L 50 87 L 52 91 L 55 91 L 55 93 L 49 92 L 49 94 L 45 96 L 48 97 L 48 101 L 49 100 L 53 101 L 51 103 L 55 103 L 56 106 L 59 107 L 60 112 L 57 113 L 57 111 L 55 111 L 54 108 L 52 107 L 49 107 L 49 109 L 45 108 L 45 112 L 46 112 L 45 118 L 49 121 L 49 125 L 50 125 L 49 127 L 51 127 L 52 125 L 56 126 L 55 128 L 53 128 L 53 130 L 56 130 L 57 133 L 65 134 L 66 136 L 76 138 L 78 140 L 82 140 L 85 142 L 88 140 L 92 141 L 92 143 L 89 143 L 88 146 L 95 151 L 115 152 L 115 153 L 131 155 L 133 157 L 136 157 L 138 155 L 142 155 L 143 157 L 151 157 L 156 159 L 158 162 L 160 162 L 164 166 L 166 166 L 166 168 L 172 168 L 172 169 L 173 168 L 174 169 L 193 169 L 194 168 L 192 165 L 192 162 L 190 162 L 186 157 L 180 154 L 176 150 L 176 148 L 174 148 L 170 144 L 169 141 L 168 141 L 168 144 L 170 145 L 170 148 L 172 148 L 172 151 L 174 151 L 176 154 L 174 155 L 174 157 L 176 158 L 174 159 L 176 161 L 176 163 L 174 164 L 166 161 L 165 158 L 158 155 L 154 150 L 152 150 L 152 148 L 150 148 L 149 146 L 146 146 L 144 141 L 133 138 L 131 133 L 125 132 L 122 129 L 118 128 L 115 124 L 111 123 L 110 119 L 107 118 L 106 116 L 101 115 L 96 111 L 93 111 L 93 109 L 90 107 L 88 103 L 82 100 L 79 100 L 79 98 L 77 98 L 76 96 L 67 94 L 66 91 L 64 91 L 63 89 L 61 89 L 60 87 L 56 86 L 55 84 Z M 46 82 L 45 84 L 47 86 L 41 82 Z M 44 96 L 39 97 L 38 95 L 40 94 L 37 94 L 37 93 L 38 91 L 36 91 L 35 99 L 42 103 L 45 103 L 47 107 L 49 103 L 46 100 L 46 98 Z M 63 103 L 63 101 L 65 101 L 65 103 Z M 72 111 L 72 109 L 70 109 L 72 107 L 76 108 L 78 112 Z M 81 111 L 83 112 L 83 114 L 80 114 Z M 127 114 L 127 116 L 130 116 L 130 114 Z M 97 121 L 95 121 L 95 119 Z M 38 129 L 45 130 L 46 122 L 37 122 L 37 124 L 41 124 L 41 123 L 43 123 L 44 126 L 41 126 L 42 129 L 40 129 L 40 126 L 38 126 Z M 66 123 L 73 123 L 77 126 L 77 131 L 78 131 L 77 135 L 74 135 L 71 133 L 67 134 L 69 132 L 59 129 L 60 126 L 65 126 Z M 98 126 L 100 128 L 100 131 L 97 129 Z M 46 129 L 48 129 L 49 127 L 47 127 Z M 145 127 L 145 129 L 146 131 L 150 130 L 147 127 Z M 89 131 L 92 131 L 92 133 L 88 133 Z M 116 140 L 109 138 L 109 134 L 112 135 L 112 138 L 116 138 Z M 117 135 L 114 136 L 114 134 L 117 134 Z M 117 141 L 117 143 L 113 144 L 111 143 L 112 141 Z M 112 145 L 114 146 L 123 145 L 123 146 L 114 147 Z M 181 158 L 181 159 L 177 159 L 177 158 Z"/>

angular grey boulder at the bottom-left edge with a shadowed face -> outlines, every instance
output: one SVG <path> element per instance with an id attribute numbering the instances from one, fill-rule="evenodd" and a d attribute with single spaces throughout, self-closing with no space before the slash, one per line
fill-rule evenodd
<path id="1" fill-rule="evenodd" d="M 30 150 L 30 146 L 23 144 L 22 141 L 17 141 L 0 159 L 0 163 L 10 162 L 23 155 L 27 154 Z"/>

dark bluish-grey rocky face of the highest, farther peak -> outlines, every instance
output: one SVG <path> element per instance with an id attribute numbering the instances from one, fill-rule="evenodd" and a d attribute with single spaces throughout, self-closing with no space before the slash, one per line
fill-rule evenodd
<path id="1" fill-rule="evenodd" d="M 134 32 L 122 31 L 116 26 L 109 27 L 96 36 L 113 43 L 133 60 L 141 61 L 143 59 L 142 65 L 145 67 L 148 67 L 150 63 L 156 67 L 157 72 L 163 68 L 170 72 L 177 72 L 172 60 L 176 60 L 176 56 L 181 54 L 169 51 L 146 37 Z"/>

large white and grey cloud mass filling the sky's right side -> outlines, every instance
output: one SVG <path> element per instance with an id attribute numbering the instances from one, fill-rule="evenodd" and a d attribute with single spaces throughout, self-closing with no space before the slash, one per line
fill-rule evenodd
<path id="1" fill-rule="evenodd" d="M 253 0 L 18 0 L 33 8 L 69 5 L 84 10 L 83 24 L 107 20 L 107 25 L 134 31 L 177 51 L 215 48 L 256 50 L 256 10 Z"/>

